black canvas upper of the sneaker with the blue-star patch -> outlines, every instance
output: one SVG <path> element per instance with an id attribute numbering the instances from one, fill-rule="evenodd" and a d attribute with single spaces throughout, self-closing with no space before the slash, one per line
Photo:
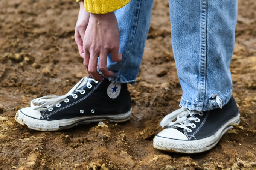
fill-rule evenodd
<path id="1" fill-rule="evenodd" d="M 60 102 L 60 107 L 52 107 L 53 110 L 41 111 L 41 120 L 59 120 L 73 117 L 92 116 L 92 115 L 115 115 L 123 114 L 131 109 L 130 92 L 127 84 L 121 84 L 121 90 L 117 98 L 110 98 L 107 88 L 111 82 L 106 78 L 102 82 L 90 81 L 92 87 L 86 85 L 79 90 L 85 90 L 84 94 L 74 92 L 78 97 L 74 99 L 71 95 L 67 98 L 69 102 Z M 81 113 L 83 110 L 83 113 Z M 93 110 L 93 111 L 92 111 Z"/>

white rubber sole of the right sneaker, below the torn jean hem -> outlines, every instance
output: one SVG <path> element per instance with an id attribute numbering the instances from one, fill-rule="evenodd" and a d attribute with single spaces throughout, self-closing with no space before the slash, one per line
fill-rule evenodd
<path id="1" fill-rule="evenodd" d="M 201 153 L 212 149 L 226 133 L 227 130 L 233 128 L 233 123 L 240 123 L 240 114 L 226 122 L 212 136 L 200 140 L 177 140 L 155 136 L 153 145 L 154 148 L 175 153 Z"/>

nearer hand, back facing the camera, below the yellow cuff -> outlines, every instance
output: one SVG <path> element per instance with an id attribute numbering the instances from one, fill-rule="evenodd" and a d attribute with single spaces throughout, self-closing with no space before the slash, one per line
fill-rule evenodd
<path id="1" fill-rule="evenodd" d="M 97 71 L 99 57 L 99 70 L 106 77 L 112 77 L 113 72 L 107 68 L 108 54 L 111 53 L 113 62 L 122 60 L 122 54 L 118 52 L 119 30 L 114 12 L 90 14 L 85 37 L 83 41 L 84 65 L 88 74 L 95 80 L 102 81 Z"/>

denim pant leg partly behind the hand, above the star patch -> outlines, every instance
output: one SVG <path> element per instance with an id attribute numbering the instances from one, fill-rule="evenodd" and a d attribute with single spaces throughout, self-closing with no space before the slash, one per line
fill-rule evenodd
<path id="1" fill-rule="evenodd" d="M 107 68 L 114 73 L 110 81 L 134 84 L 148 36 L 154 0 L 131 0 L 128 5 L 115 11 L 119 27 L 122 61 L 114 63 L 109 54 Z"/>

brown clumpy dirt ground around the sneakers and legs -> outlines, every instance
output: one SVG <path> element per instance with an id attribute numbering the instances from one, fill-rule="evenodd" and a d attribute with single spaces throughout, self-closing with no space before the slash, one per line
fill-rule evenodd
<path id="1" fill-rule="evenodd" d="M 74 40 L 75 0 L 0 1 L 0 169 L 256 169 L 256 1 L 240 0 L 230 65 L 241 124 L 212 150 L 161 152 L 153 137 L 182 94 L 171 48 L 168 1 L 156 0 L 128 122 L 38 132 L 15 121 L 34 98 L 63 95 L 87 75 Z"/>

